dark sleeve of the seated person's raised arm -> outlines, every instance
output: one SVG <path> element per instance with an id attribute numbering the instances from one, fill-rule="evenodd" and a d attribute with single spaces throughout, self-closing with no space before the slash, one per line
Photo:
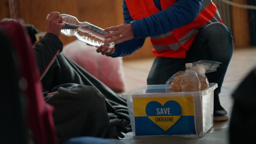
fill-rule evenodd
<path id="1" fill-rule="evenodd" d="M 38 45 L 34 47 L 40 71 L 40 81 L 56 59 L 56 56 L 62 52 L 62 49 L 63 43 L 57 35 L 52 33 L 47 33 Z"/>

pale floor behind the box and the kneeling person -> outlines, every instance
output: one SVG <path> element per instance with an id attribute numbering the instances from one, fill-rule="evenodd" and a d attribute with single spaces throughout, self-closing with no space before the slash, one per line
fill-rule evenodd
<path id="1" fill-rule="evenodd" d="M 146 78 L 151 68 L 154 58 L 141 60 L 128 60 L 123 62 L 125 71 L 125 92 L 146 85 Z M 213 127 L 208 132 L 227 130 L 233 107 L 231 97 L 233 91 L 243 81 L 244 77 L 256 66 L 256 48 L 235 49 L 227 74 L 222 85 L 220 101 L 228 114 L 229 120 L 214 122 Z"/>

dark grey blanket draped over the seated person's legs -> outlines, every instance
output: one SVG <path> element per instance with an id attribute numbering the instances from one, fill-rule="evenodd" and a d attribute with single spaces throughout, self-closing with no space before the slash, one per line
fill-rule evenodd
<path id="1" fill-rule="evenodd" d="M 59 141 L 74 136 L 122 137 L 130 121 L 126 100 L 60 53 L 41 80 Z M 122 120 L 124 119 L 124 120 Z"/>

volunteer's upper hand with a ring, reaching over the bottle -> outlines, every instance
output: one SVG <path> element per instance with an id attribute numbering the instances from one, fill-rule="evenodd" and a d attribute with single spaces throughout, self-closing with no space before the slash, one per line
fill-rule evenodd
<path id="1" fill-rule="evenodd" d="M 108 35 L 105 35 L 105 38 L 111 38 L 108 40 L 109 43 L 114 42 L 115 44 L 122 43 L 126 40 L 133 39 L 134 36 L 134 30 L 131 26 L 131 24 L 121 24 L 119 26 L 112 26 L 105 29 L 105 32 L 111 32 Z"/>

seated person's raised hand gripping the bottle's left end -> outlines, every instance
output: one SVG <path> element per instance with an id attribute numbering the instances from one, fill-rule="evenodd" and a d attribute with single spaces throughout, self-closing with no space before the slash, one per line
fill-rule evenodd
<path id="1" fill-rule="evenodd" d="M 52 33 L 60 37 L 61 29 L 65 27 L 59 12 L 51 12 L 46 19 L 46 34 Z"/>

